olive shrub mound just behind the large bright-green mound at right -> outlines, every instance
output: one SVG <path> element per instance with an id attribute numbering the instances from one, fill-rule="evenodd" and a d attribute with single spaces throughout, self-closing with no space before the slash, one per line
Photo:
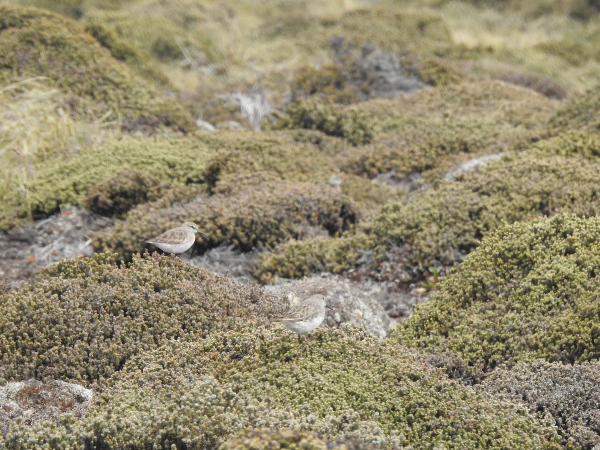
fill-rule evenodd
<path id="1" fill-rule="evenodd" d="M 407 245 L 410 263 L 452 265 L 503 223 L 576 212 L 600 213 L 594 181 L 600 164 L 581 158 L 512 155 L 481 172 L 385 208 L 372 226 L 379 239 Z"/>

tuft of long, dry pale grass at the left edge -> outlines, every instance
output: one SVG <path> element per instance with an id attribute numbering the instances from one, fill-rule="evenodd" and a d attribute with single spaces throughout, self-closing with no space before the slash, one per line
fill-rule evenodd
<path id="1" fill-rule="evenodd" d="M 110 142 L 117 134 L 116 124 L 105 117 L 84 121 L 73 116 L 65 96 L 44 77 L 0 89 L 0 104 L 2 194 L 20 190 L 28 199 L 29 180 L 38 168 Z"/>

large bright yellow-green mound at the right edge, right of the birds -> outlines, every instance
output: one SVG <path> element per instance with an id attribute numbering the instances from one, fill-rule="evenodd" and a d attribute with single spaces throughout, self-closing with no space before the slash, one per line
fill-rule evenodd
<path id="1" fill-rule="evenodd" d="M 490 371 L 596 359 L 600 219 L 559 214 L 488 236 L 391 340 Z"/>

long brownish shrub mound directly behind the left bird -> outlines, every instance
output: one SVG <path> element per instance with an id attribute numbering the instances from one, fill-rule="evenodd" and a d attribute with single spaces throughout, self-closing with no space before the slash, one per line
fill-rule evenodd
<path id="1" fill-rule="evenodd" d="M 154 236 L 184 221 L 206 233 L 199 248 L 230 242 L 236 249 L 272 248 L 290 238 L 336 235 L 358 221 L 353 202 L 329 186 L 263 183 L 251 190 L 198 197 L 166 206 L 162 200 L 134 208 L 113 230 L 92 235 L 96 251 L 116 251 L 129 260 L 143 250 L 139 238 Z"/>

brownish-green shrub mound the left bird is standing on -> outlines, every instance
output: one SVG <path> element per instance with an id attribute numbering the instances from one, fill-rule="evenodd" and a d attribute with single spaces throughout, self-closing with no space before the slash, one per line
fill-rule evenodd
<path id="1" fill-rule="evenodd" d="M 255 287 L 145 254 L 64 260 L 0 305 L 0 379 L 94 382 L 171 339 L 198 340 L 236 322 L 267 323 L 273 299 Z"/>

